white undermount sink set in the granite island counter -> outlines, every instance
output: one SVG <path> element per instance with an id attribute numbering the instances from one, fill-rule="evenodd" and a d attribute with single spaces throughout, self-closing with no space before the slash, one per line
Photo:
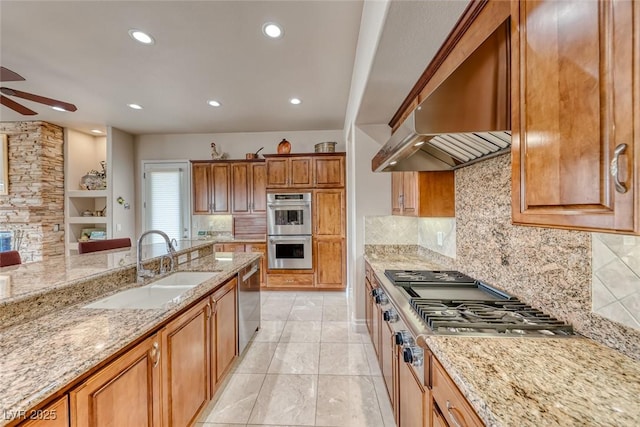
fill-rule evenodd
<path id="1" fill-rule="evenodd" d="M 94 301 L 83 308 L 154 309 L 170 302 L 179 302 L 180 296 L 191 288 L 217 276 L 216 272 L 173 273 L 148 285 L 127 289 Z"/>

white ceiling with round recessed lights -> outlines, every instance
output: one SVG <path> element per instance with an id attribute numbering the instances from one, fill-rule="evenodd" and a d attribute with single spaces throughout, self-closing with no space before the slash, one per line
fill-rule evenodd
<path id="1" fill-rule="evenodd" d="M 468 1 L 391 2 L 358 123 L 387 123 Z M 341 129 L 363 2 L 0 2 L 0 64 L 17 90 L 72 102 L 78 111 L 12 99 L 0 121 L 45 120 L 88 132 L 133 134 Z M 285 35 L 270 40 L 262 24 Z M 134 42 L 128 30 L 156 43 Z M 288 103 L 296 96 L 299 106 Z M 208 99 L 223 106 L 213 108 Z M 128 103 L 144 106 L 131 110 Z"/>

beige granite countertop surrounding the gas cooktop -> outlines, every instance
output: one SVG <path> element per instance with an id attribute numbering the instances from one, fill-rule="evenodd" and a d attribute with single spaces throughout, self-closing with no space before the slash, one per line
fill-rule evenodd
<path id="1" fill-rule="evenodd" d="M 637 426 L 640 362 L 573 338 L 434 335 L 384 276 L 385 269 L 443 269 L 418 254 L 367 254 L 403 321 L 487 426 Z"/>

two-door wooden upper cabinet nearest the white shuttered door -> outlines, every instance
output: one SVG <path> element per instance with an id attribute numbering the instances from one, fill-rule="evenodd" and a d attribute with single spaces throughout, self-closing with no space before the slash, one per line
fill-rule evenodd
<path id="1" fill-rule="evenodd" d="M 193 213 L 231 213 L 231 170 L 228 163 L 193 163 Z"/>

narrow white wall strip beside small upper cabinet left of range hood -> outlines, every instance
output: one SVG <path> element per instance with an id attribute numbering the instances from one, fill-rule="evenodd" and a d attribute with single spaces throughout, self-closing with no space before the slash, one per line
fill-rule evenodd
<path id="1" fill-rule="evenodd" d="M 349 163 L 348 265 L 349 282 L 355 299 L 356 320 L 364 319 L 364 219 L 366 216 L 391 213 L 391 174 L 371 171 L 371 159 L 390 135 L 387 125 L 354 128 L 353 140 L 347 151 Z M 363 130 L 366 129 L 366 132 Z"/>

